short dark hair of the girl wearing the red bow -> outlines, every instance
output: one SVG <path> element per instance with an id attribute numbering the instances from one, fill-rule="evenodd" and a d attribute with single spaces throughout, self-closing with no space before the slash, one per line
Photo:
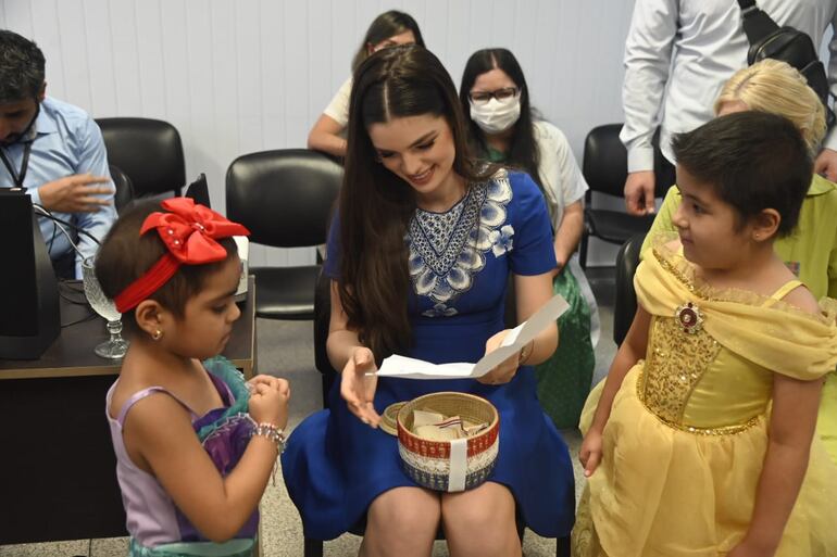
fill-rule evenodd
<path id="1" fill-rule="evenodd" d="M 163 211 L 159 202 L 137 203 L 120 216 L 104 238 L 96 256 L 96 278 L 109 299 L 116 298 L 167 252 L 155 231 L 139 235 L 146 217 L 154 211 Z M 227 258 L 238 253 L 232 238 L 217 242 L 227 251 Z M 207 265 L 180 265 L 174 276 L 148 300 L 159 302 L 175 317 L 182 318 L 186 302 L 203 288 L 207 277 L 218 270 L 225 261 Z M 136 330 L 134 309 L 123 315 L 122 322 L 129 331 Z"/>

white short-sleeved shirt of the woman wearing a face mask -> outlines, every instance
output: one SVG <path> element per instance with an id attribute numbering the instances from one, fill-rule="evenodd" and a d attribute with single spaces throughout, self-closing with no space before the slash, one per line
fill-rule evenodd
<path id="1" fill-rule="evenodd" d="M 532 127 L 538 145 L 538 177 L 544 181 L 549 216 L 558 232 L 564 208 L 584 198 L 589 187 L 566 136 L 549 122 L 537 121 Z"/>

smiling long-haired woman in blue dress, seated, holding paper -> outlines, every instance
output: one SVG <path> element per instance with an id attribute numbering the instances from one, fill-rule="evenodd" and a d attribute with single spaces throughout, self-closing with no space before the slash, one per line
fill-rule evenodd
<path id="1" fill-rule="evenodd" d="M 365 516 L 363 556 L 427 556 L 441 524 L 452 555 L 505 557 L 521 555 L 519 514 L 540 535 L 565 536 L 572 465 L 529 367 L 555 350 L 557 327 L 477 380 L 367 375 L 390 354 L 441 364 L 496 349 L 509 332 L 509 274 L 520 320 L 551 298 L 555 257 L 542 195 L 528 175 L 472 159 L 453 83 L 421 47 L 364 62 L 350 106 L 325 265 L 327 351 L 342 372 L 332 410 L 307 418 L 282 459 L 305 535 L 330 540 Z M 401 469 L 397 439 L 377 428 L 388 405 L 438 391 L 484 396 L 499 410 L 497 464 L 476 489 L 417 486 Z"/>

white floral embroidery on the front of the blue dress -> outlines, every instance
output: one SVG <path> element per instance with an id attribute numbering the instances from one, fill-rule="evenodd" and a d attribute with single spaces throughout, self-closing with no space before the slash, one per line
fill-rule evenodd
<path id="1" fill-rule="evenodd" d="M 512 250 L 514 229 L 505 225 L 511 199 L 509 175 L 501 170 L 487 182 L 472 185 L 445 213 L 415 210 L 407 235 L 410 278 L 413 291 L 434 303 L 422 315 L 457 315 L 451 303 L 471 289 L 485 267 L 486 252 L 499 257 Z"/>

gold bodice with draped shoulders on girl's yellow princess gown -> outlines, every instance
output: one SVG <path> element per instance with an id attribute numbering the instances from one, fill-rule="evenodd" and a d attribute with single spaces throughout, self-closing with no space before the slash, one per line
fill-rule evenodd
<path id="1" fill-rule="evenodd" d="M 634 280 L 651 315 L 636 392 L 660 421 L 698 434 L 744 431 L 764 415 L 775 374 L 808 381 L 834 369 L 834 300 L 812 315 L 782 301 L 798 280 L 766 296 L 714 288 L 680 250 L 655 239 Z"/>

